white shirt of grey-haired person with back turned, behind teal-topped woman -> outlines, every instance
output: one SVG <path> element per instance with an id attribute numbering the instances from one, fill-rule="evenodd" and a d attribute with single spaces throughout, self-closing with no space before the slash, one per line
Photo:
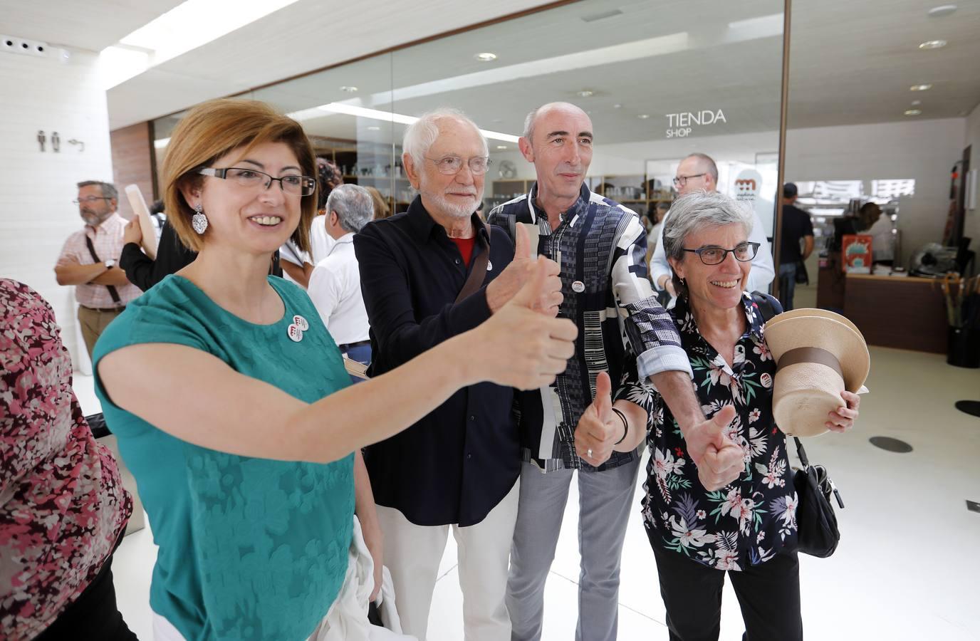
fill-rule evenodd
<path id="1" fill-rule="evenodd" d="M 361 295 L 353 233 L 341 236 L 317 264 L 307 293 L 337 345 L 368 340 L 368 310 Z"/>

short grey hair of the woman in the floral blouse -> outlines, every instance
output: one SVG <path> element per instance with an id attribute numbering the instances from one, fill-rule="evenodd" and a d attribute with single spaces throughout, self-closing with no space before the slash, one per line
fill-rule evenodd
<path id="1" fill-rule="evenodd" d="M 663 223 L 663 253 L 677 262 L 686 256 L 684 243 L 687 237 L 705 227 L 741 224 L 745 234 L 752 233 L 753 217 L 738 201 L 717 191 L 699 191 L 681 196 L 670 205 L 670 213 Z M 673 273 L 673 267 L 670 268 Z M 674 289 L 686 288 L 673 273 Z"/>

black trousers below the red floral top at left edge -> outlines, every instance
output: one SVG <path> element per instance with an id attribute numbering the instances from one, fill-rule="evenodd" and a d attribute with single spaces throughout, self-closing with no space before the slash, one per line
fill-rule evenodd
<path id="1" fill-rule="evenodd" d="M 126 626 L 116 606 L 112 564 L 113 558 L 109 557 L 88 587 L 34 641 L 135 641 L 136 635 Z"/>

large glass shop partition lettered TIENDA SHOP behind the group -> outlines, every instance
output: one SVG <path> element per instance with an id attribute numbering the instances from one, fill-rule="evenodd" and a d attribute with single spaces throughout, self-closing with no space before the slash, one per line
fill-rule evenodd
<path id="1" fill-rule="evenodd" d="M 717 162 L 719 189 L 754 207 L 771 236 L 782 30 L 782 0 L 657 10 L 645 0 L 582 0 L 241 97 L 299 120 L 346 182 L 376 187 L 395 211 L 414 196 L 401 139 L 420 114 L 456 107 L 484 130 L 492 207 L 534 181 L 516 144 L 525 115 L 572 102 L 596 133 L 590 187 L 643 216 L 673 199 L 679 161 L 705 153 Z M 181 116 L 154 123 L 158 167 Z"/>

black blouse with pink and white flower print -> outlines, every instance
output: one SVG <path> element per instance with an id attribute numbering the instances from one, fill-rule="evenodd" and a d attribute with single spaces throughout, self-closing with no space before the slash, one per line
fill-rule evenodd
<path id="1" fill-rule="evenodd" d="M 765 326 L 752 295 L 742 305 L 748 329 L 735 346 L 734 367 L 698 331 L 685 297 L 671 312 L 694 371 L 694 388 L 708 417 L 734 405 L 727 435 L 742 446 L 745 471 L 733 483 L 709 492 L 687 456 L 670 410 L 655 395 L 644 483 L 643 521 L 650 540 L 715 569 L 742 570 L 795 547 L 797 495 L 786 437 L 772 417 L 776 365 L 765 344 Z"/>

